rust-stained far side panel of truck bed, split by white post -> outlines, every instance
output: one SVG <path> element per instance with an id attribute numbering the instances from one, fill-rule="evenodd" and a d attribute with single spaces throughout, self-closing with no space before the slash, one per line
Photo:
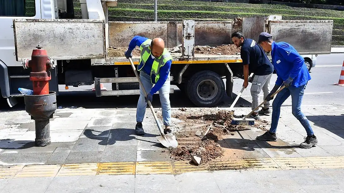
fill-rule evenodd
<path id="1" fill-rule="evenodd" d="M 195 46 L 231 44 L 232 25 L 232 21 L 195 22 Z M 160 37 L 172 48 L 182 44 L 182 33 L 181 22 L 109 22 L 109 42 L 114 47 L 127 47 L 131 38 L 140 35 Z"/>

